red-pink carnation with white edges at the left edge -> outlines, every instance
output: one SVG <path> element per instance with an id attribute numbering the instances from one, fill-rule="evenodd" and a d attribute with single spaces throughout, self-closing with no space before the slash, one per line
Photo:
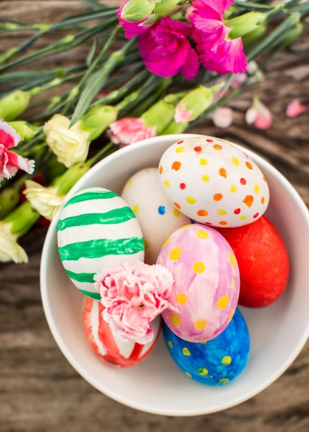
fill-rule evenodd
<path id="1" fill-rule="evenodd" d="M 0 121 L 0 181 L 6 177 L 10 179 L 17 170 L 21 169 L 32 174 L 35 169 L 35 161 L 21 157 L 17 153 L 8 150 L 16 147 L 20 135 L 6 121 Z"/>

